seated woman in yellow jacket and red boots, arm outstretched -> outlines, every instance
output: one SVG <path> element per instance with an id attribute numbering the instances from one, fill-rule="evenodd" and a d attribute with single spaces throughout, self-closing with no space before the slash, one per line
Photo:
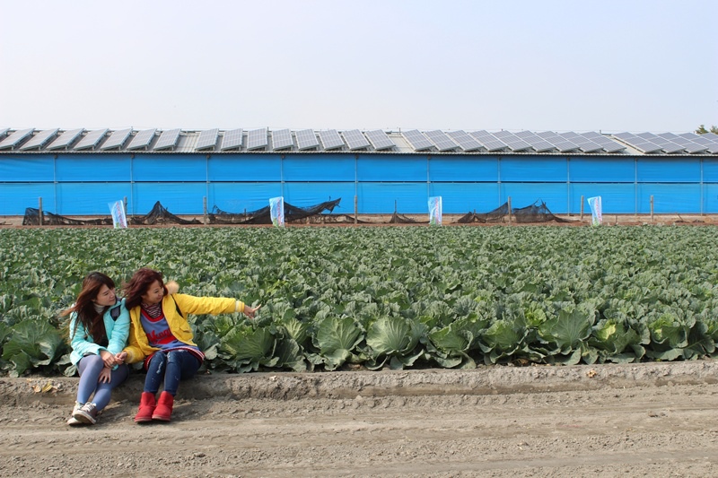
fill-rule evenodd
<path id="1" fill-rule="evenodd" d="M 194 377 L 205 360 L 193 342 L 187 314 L 243 312 L 254 318 L 259 307 L 229 298 L 169 294 L 162 274 L 148 268 L 139 269 L 123 289 L 130 316 L 129 344 L 118 359 L 144 361 L 147 370 L 135 422 L 170 422 L 180 380 Z M 161 385 L 162 394 L 155 402 Z"/>

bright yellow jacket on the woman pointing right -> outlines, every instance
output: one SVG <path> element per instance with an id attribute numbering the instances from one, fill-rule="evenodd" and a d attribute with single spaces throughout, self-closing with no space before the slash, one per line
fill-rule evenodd
<path id="1" fill-rule="evenodd" d="M 140 306 L 137 306 L 129 311 L 129 344 L 125 347 L 127 363 L 143 361 L 145 357 L 160 350 L 157 347 L 151 347 L 147 340 L 147 335 L 144 334 L 144 328 L 142 328 L 142 322 L 140 321 L 142 315 L 140 309 Z M 210 314 L 215 316 L 217 314 L 229 314 L 235 310 L 244 310 L 244 302 L 223 297 L 194 297 L 187 294 L 171 294 L 164 296 L 162 299 L 162 312 L 167 319 L 172 335 L 180 342 L 188 345 L 197 346 L 197 343 L 192 342 L 194 334 L 187 321 L 188 314 Z"/>

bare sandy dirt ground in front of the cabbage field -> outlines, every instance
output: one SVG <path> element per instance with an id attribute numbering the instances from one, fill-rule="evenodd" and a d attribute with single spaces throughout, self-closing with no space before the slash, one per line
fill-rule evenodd
<path id="1" fill-rule="evenodd" d="M 69 427 L 77 378 L 0 378 L 3 476 L 715 476 L 718 361 L 143 376 Z"/>

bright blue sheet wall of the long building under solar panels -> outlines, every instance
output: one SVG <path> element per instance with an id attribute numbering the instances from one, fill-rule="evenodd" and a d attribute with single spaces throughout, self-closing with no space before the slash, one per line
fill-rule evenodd
<path id="1" fill-rule="evenodd" d="M 284 196 L 306 206 L 342 198 L 335 213 L 486 213 L 509 197 L 513 207 L 543 201 L 553 213 L 718 213 L 713 156 L 241 153 L 2 154 L 0 215 L 27 207 L 62 215 L 106 215 L 127 197 L 131 214 L 160 201 L 171 213 L 250 212 Z"/>

